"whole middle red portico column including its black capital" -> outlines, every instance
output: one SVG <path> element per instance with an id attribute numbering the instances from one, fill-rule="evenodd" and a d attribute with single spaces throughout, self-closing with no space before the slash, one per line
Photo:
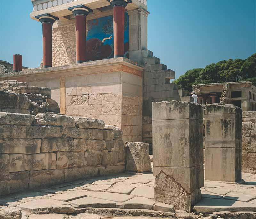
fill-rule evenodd
<path id="1" fill-rule="evenodd" d="M 73 12 L 76 20 L 76 63 L 85 62 L 86 52 L 86 16 L 92 10 L 83 4 L 68 8 Z"/>

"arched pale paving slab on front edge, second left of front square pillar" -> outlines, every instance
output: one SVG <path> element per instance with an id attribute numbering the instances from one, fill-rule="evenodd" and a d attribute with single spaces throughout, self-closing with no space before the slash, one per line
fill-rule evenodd
<path id="1" fill-rule="evenodd" d="M 155 204 L 155 201 L 152 199 L 147 199 L 144 197 L 134 197 L 126 202 L 124 202 L 124 208 L 125 209 L 149 209 L 153 210 L 153 205 Z"/>

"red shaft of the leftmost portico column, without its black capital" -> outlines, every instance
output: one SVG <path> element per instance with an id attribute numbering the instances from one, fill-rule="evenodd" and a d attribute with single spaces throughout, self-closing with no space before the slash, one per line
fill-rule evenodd
<path id="1" fill-rule="evenodd" d="M 52 67 L 52 23 L 44 22 L 43 26 L 43 67 Z"/>

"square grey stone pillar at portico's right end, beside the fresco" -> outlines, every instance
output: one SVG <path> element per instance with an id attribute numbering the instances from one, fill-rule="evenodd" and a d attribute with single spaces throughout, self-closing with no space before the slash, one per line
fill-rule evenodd
<path id="1" fill-rule="evenodd" d="M 149 57 L 148 14 L 146 9 L 129 11 L 129 59 L 142 64 L 142 58 Z"/>

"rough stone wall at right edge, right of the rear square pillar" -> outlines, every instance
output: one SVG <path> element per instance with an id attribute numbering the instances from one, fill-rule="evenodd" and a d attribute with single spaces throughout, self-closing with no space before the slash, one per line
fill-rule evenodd
<path id="1" fill-rule="evenodd" d="M 256 111 L 243 112 L 242 171 L 256 173 Z"/>

